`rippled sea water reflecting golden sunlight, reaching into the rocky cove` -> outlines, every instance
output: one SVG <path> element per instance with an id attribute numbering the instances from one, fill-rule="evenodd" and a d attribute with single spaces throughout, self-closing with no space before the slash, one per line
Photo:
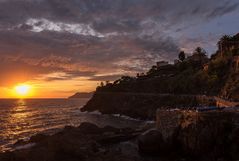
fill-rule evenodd
<path id="1" fill-rule="evenodd" d="M 88 99 L 0 99 L 0 151 L 12 150 L 19 139 L 36 133 L 53 134 L 66 125 L 92 122 L 99 126 L 133 127 L 145 124 L 99 113 L 82 113 Z"/>

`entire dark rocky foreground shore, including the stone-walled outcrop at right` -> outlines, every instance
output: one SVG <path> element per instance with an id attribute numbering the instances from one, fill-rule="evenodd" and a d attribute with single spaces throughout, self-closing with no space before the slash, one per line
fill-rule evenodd
<path id="1" fill-rule="evenodd" d="M 165 113 L 164 113 L 165 112 Z M 236 161 L 238 112 L 158 111 L 157 126 L 140 129 L 82 123 L 38 134 L 0 154 L 1 161 Z M 168 117 L 171 116 L 171 117 Z M 168 120 L 166 120 L 167 118 Z M 167 125 L 168 123 L 168 125 Z M 165 135 L 167 134 L 167 135 Z"/>

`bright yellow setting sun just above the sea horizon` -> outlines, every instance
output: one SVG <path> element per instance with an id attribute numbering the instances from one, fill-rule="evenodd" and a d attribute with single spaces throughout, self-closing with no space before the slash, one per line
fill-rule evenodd
<path id="1" fill-rule="evenodd" d="M 32 94 L 32 86 L 28 84 L 17 85 L 14 88 L 14 94 L 20 98 L 30 97 Z"/>

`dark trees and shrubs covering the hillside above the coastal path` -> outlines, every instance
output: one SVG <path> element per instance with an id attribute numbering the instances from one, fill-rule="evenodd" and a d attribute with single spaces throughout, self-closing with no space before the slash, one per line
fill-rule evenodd
<path id="1" fill-rule="evenodd" d="M 238 46 L 235 43 L 238 38 L 223 36 L 218 44 L 225 45 L 229 40 L 233 45 L 224 46 L 227 50 L 223 51 L 219 48 L 210 59 L 200 47 L 187 58 L 181 51 L 179 63 L 161 67 L 154 65 L 146 74 L 137 74 L 136 77 L 123 76 L 113 83 L 107 82 L 99 86 L 97 91 L 202 94 L 230 98 L 231 92 L 225 90 L 239 89 L 238 84 L 235 84 L 239 82 L 239 78 L 235 76 L 238 73 L 232 68 L 233 58 L 238 54 Z"/>

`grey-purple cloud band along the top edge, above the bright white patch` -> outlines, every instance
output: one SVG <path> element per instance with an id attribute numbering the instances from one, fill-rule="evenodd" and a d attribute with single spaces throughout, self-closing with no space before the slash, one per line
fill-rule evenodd
<path id="1" fill-rule="evenodd" d="M 0 21 L 6 25 L 22 23 L 28 18 L 47 18 L 93 23 L 99 30 L 111 26 L 115 31 L 137 29 L 139 22 L 147 18 L 174 24 L 187 19 L 213 18 L 238 9 L 236 0 L 6 0 L 0 3 Z"/>

